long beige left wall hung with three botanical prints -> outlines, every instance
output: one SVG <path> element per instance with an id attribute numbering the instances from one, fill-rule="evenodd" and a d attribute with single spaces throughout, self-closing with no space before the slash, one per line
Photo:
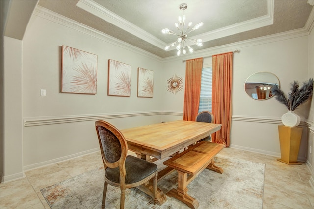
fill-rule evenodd
<path id="1" fill-rule="evenodd" d="M 98 150 L 97 119 L 112 121 L 119 129 L 162 122 L 156 112 L 163 103 L 163 64 L 152 55 L 118 43 L 39 16 L 31 20 L 23 39 L 25 169 Z M 62 45 L 98 56 L 96 95 L 60 93 Z M 130 97 L 107 96 L 108 59 L 131 65 Z M 154 71 L 153 98 L 137 97 L 138 67 Z M 47 96 L 40 96 L 40 89 L 46 89 Z M 114 119 L 118 115 L 120 118 Z"/>

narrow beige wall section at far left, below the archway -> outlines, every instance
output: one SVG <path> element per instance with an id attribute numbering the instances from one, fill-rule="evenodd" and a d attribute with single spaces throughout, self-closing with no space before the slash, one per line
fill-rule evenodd
<path id="1" fill-rule="evenodd" d="M 23 177 L 22 129 L 22 41 L 4 37 L 4 73 L 2 74 L 1 145 L 3 176 L 8 179 Z"/>

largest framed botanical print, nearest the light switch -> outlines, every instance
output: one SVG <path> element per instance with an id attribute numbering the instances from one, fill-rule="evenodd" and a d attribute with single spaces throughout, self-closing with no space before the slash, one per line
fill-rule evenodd
<path id="1" fill-rule="evenodd" d="M 62 46 L 61 92 L 96 94 L 97 55 Z"/>

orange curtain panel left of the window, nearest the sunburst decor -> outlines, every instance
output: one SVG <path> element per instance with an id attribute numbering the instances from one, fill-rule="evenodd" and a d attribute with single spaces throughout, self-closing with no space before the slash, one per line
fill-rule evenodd
<path id="1" fill-rule="evenodd" d="M 195 121 L 201 93 L 203 58 L 186 60 L 183 120 Z"/>

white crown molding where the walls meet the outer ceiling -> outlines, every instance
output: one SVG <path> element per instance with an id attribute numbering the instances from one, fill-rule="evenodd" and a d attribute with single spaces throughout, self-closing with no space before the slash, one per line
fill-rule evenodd
<path id="1" fill-rule="evenodd" d="M 69 18 L 66 18 L 62 15 L 59 15 L 55 12 L 52 12 L 52 11 L 50 11 L 44 7 L 37 6 L 35 9 L 34 15 L 41 17 L 41 18 L 44 18 L 46 20 L 52 21 L 54 23 L 61 24 L 65 27 L 77 30 L 79 32 L 88 34 L 92 37 L 98 38 L 98 39 L 105 41 L 109 44 L 119 46 L 119 47 L 124 48 L 126 50 L 129 50 L 133 53 L 140 54 L 142 56 L 157 60 L 158 62 L 162 62 L 162 63 L 177 61 L 177 60 L 181 61 L 183 59 L 193 59 L 195 57 L 207 57 L 207 56 L 212 56 L 213 54 L 224 53 L 226 51 L 233 51 L 235 49 L 241 49 L 241 48 L 245 48 L 245 47 L 249 47 L 249 46 L 255 46 L 255 45 L 260 45 L 260 44 L 265 44 L 265 43 L 271 43 L 271 42 L 296 38 L 296 37 L 302 37 L 302 36 L 309 35 L 309 33 L 312 30 L 313 25 L 314 25 L 314 10 L 312 10 L 310 17 L 309 17 L 307 23 L 305 24 L 304 28 L 291 30 L 291 31 L 287 31 L 287 32 L 282 32 L 282 33 L 277 33 L 277 34 L 268 35 L 268 36 L 262 36 L 262 37 L 253 38 L 253 39 L 240 41 L 240 42 L 235 42 L 235 43 L 231 43 L 231 44 L 227 44 L 227 45 L 211 47 L 208 49 L 197 50 L 197 51 L 194 51 L 193 54 L 188 53 L 186 55 L 181 55 L 180 57 L 174 55 L 171 57 L 161 58 L 155 54 L 147 52 L 147 51 L 140 49 L 136 46 L 132 46 L 128 43 L 125 43 L 119 39 L 116 39 L 112 36 L 109 36 L 105 33 L 102 33 L 98 30 L 95 30 L 91 27 L 88 27 L 86 25 L 83 25 L 81 23 L 73 21 Z"/>

